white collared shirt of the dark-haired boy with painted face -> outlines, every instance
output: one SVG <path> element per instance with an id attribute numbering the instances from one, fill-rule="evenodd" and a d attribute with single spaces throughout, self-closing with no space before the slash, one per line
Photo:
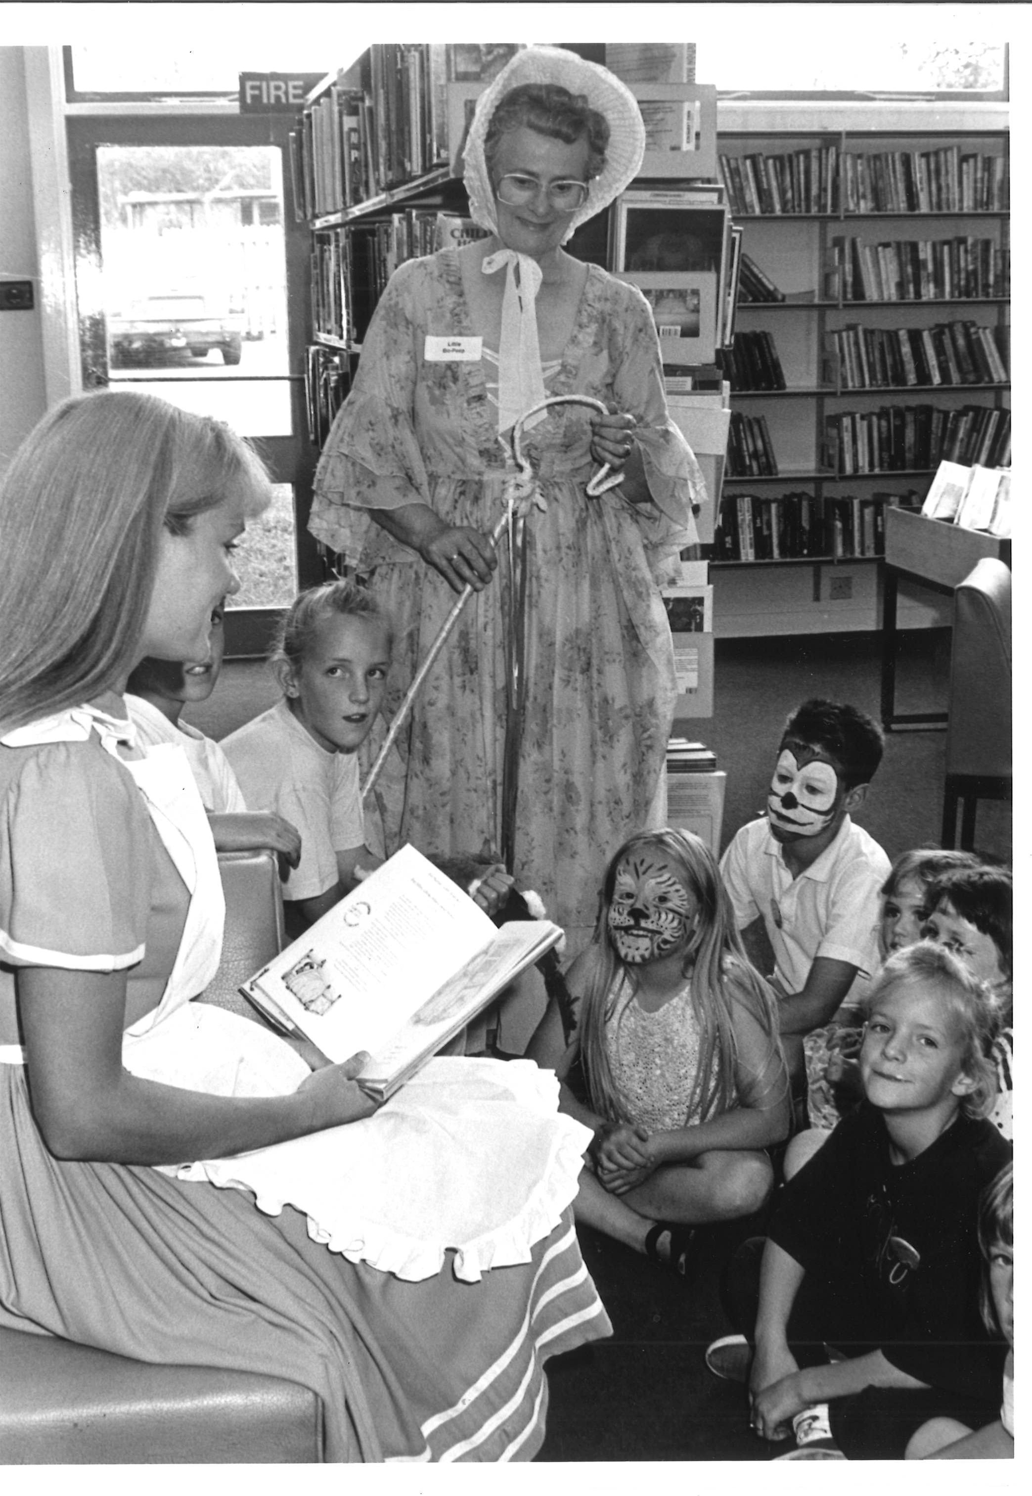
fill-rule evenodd
<path id="1" fill-rule="evenodd" d="M 721 857 L 721 877 L 739 929 L 757 916 L 770 938 L 775 974 L 800 992 L 817 956 L 857 966 L 842 1007 L 856 1007 L 881 963 L 878 916 L 890 862 L 847 815 L 838 836 L 799 877 L 785 866 L 766 815 L 749 821 Z"/>

